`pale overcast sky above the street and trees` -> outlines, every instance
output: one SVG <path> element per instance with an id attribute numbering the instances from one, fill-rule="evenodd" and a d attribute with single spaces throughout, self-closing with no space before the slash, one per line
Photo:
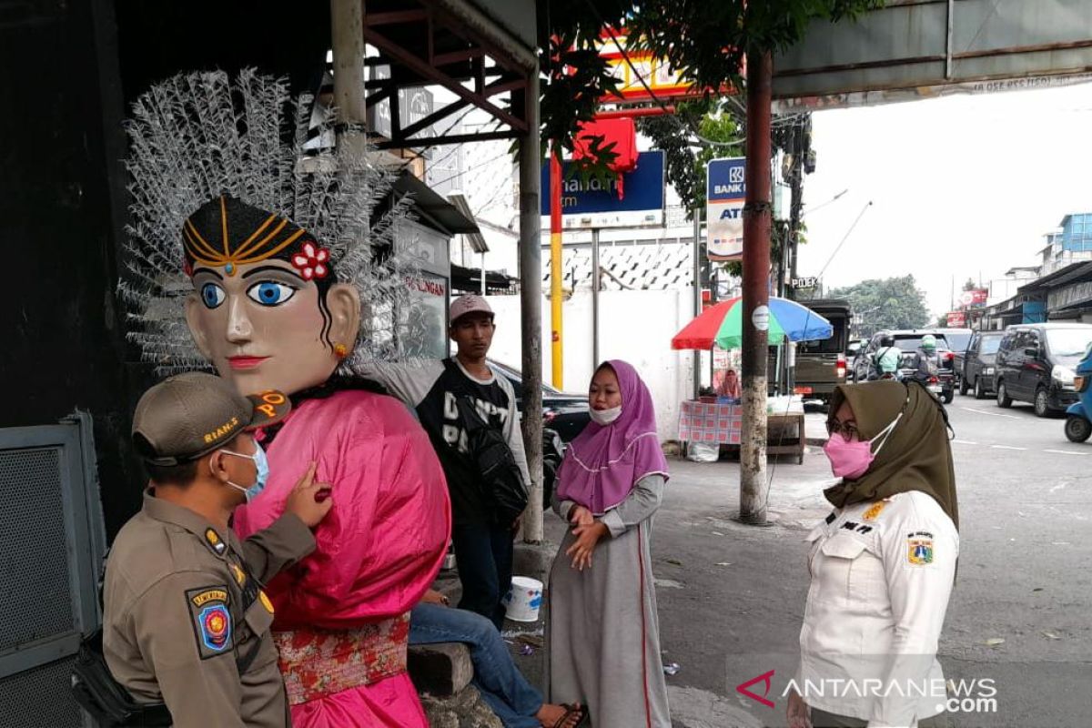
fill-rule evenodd
<path id="1" fill-rule="evenodd" d="M 818 111 L 812 146 L 798 274 L 830 289 L 913 273 L 934 314 L 952 276 L 959 291 L 1034 265 L 1045 232 L 1092 212 L 1092 84 Z"/>

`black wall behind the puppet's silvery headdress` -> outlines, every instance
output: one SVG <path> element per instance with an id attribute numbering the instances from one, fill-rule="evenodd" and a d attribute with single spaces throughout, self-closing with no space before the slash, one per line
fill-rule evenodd
<path id="1" fill-rule="evenodd" d="M 115 296 L 127 103 L 245 65 L 317 87 L 325 2 L 0 0 L 0 427 L 95 421 L 107 534 L 140 509 L 130 415 L 155 381 Z"/>

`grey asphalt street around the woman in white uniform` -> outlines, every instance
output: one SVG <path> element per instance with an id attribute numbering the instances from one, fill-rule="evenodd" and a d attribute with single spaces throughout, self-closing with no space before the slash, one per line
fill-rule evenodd
<path id="1" fill-rule="evenodd" d="M 1092 442 L 1070 443 L 1063 419 L 1030 406 L 957 395 L 948 411 L 961 553 L 940 660 L 947 677 L 997 691 L 996 712 L 948 724 L 1092 725 Z M 804 465 L 771 463 L 764 528 L 733 520 L 736 464 L 670 465 L 653 552 L 664 661 L 680 666 L 667 678 L 675 726 L 784 725 L 808 583 L 803 538 L 830 511 L 826 457 L 811 447 Z M 771 669 L 774 708 L 736 691 Z"/>

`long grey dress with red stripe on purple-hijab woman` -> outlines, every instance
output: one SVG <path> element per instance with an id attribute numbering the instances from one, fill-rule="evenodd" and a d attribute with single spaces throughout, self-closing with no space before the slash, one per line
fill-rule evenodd
<path id="1" fill-rule="evenodd" d="M 663 476 L 639 480 L 600 517 L 610 536 L 596 545 L 591 569 L 577 571 L 565 554 L 575 540 L 569 529 L 550 570 L 550 700 L 586 705 L 594 728 L 672 725 L 649 548 L 663 492 Z M 561 517 L 572 505 L 554 499 Z"/>

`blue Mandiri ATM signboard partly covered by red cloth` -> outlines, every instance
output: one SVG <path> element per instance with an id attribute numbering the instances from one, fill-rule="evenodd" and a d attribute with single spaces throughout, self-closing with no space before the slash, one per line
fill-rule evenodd
<path id="1" fill-rule="evenodd" d="M 633 213 L 664 208 L 664 153 L 641 152 L 637 169 L 622 175 L 622 198 L 615 180 L 604 187 L 598 180 L 585 183 L 580 175 L 569 177 L 573 163 L 563 162 L 561 214 Z M 549 162 L 543 162 L 542 214 L 549 215 Z"/>

